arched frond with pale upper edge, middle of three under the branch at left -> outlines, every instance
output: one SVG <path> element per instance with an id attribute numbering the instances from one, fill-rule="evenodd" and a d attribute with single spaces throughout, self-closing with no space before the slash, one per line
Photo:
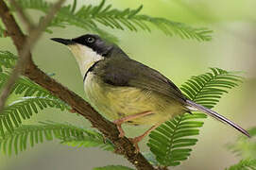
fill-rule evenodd
<path id="1" fill-rule="evenodd" d="M 65 110 L 68 106 L 57 98 L 37 96 L 23 97 L 11 103 L 0 113 L 0 136 L 5 136 L 5 128 L 12 132 L 14 127 L 20 127 L 22 120 L 30 119 L 32 114 L 46 108 Z"/>

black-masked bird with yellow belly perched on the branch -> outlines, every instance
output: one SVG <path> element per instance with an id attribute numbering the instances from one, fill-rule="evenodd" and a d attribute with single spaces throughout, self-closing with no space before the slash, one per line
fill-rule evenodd
<path id="1" fill-rule="evenodd" d="M 95 110 L 111 119 L 125 136 L 123 124 L 149 125 L 140 136 L 130 138 L 138 143 L 162 123 L 183 113 L 202 111 L 234 127 L 247 137 L 247 130 L 214 110 L 188 99 L 166 76 L 128 57 L 115 43 L 98 35 L 85 34 L 74 39 L 53 38 L 65 44 L 77 60 L 83 77 L 84 92 Z"/>

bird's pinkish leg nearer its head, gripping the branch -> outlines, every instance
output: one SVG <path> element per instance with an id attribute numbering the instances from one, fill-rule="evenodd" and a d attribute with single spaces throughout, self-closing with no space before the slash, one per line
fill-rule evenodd
<path id="1" fill-rule="evenodd" d="M 122 128 L 123 123 L 128 122 L 128 121 L 133 120 L 133 119 L 143 117 L 143 116 L 151 114 L 151 113 L 152 113 L 151 111 L 144 111 L 144 112 L 128 115 L 126 117 L 122 117 L 121 119 L 114 120 L 113 123 L 116 125 L 116 127 L 119 131 L 119 137 L 122 138 L 122 137 L 125 136 L 125 131 Z"/>

